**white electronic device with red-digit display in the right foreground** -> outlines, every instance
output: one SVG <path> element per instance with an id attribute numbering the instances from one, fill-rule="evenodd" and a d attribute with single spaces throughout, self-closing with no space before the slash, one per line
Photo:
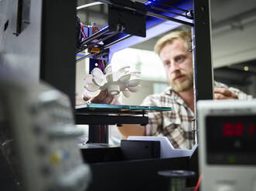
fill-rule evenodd
<path id="1" fill-rule="evenodd" d="M 256 100 L 197 103 L 200 190 L 256 190 Z"/>

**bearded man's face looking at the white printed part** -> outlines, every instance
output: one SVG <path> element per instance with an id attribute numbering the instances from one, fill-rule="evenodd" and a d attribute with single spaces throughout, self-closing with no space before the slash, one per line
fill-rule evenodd
<path id="1" fill-rule="evenodd" d="M 159 53 L 169 84 L 176 92 L 193 88 L 193 55 L 184 46 L 183 39 L 167 44 Z"/>

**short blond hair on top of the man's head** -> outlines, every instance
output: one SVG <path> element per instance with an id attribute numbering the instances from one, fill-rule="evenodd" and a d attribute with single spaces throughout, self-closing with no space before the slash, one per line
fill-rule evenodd
<path id="1" fill-rule="evenodd" d="M 155 53 L 159 55 L 162 48 L 164 48 L 167 44 L 172 44 L 173 41 L 176 39 L 183 39 L 186 49 L 188 50 L 192 49 L 191 38 L 192 37 L 190 32 L 186 32 L 186 31 L 171 32 L 167 35 L 164 35 L 161 39 L 159 39 L 155 43 Z"/>

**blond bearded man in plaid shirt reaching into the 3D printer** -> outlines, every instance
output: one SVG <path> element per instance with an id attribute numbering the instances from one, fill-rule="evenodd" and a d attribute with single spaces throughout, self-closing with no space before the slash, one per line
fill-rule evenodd
<path id="1" fill-rule="evenodd" d="M 166 69 L 169 87 L 164 92 L 148 95 L 142 106 L 171 107 L 171 112 L 149 112 L 148 125 L 123 125 L 119 131 L 127 136 L 167 136 L 172 146 L 179 149 L 191 149 L 195 144 L 194 97 L 193 97 L 193 55 L 189 32 L 172 32 L 163 36 L 155 44 Z M 88 99 L 87 96 L 84 96 Z M 250 99 L 238 89 L 228 88 L 220 82 L 214 82 L 215 99 Z M 107 92 L 101 92 L 92 102 L 118 104 Z"/>

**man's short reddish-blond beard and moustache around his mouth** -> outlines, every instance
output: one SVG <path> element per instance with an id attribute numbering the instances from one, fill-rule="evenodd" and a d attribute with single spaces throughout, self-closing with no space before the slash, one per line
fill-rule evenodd
<path id="1" fill-rule="evenodd" d="M 185 75 L 186 79 L 182 82 L 174 82 L 174 79 L 180 75 Z M 193 87 L 193 72 L 189 74 L 177 73 L 171 80 L 169 80 L 172 89 L 176 92 L 184 92 Z"/>

